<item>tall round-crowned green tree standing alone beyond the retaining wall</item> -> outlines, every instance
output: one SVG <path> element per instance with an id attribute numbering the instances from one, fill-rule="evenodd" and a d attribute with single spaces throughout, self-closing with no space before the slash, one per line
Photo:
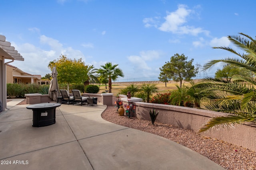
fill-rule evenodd
<path id="1" fill-rule="evenodd" d="M 180 88 L 182 87 L 182 80 L 190 81 L 192 77 L 195 77 L 198 73 L 198 69 L 192 65 L 194 59 L 186 61 L 188 57 L 185 57 L 184 54 L 179 55 L 176 53 L 171 57 L 170 62 L 168 61 L 164 65 L 165 74 L 170 80 L 175 82 L 180 82 Z"/>

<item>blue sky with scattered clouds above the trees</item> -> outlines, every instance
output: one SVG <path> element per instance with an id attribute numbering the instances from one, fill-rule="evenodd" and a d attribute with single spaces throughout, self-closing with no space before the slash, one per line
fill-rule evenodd
<path id="1" fill-rule="evenodd" d="M 0 6 L 0 34 L 25 59 L 10 64 L 42 76 L 63 54 L 95 68 L 118 64 L 120 82 L 158 80 L 176 53 L 203 66 L 234 57 L 212 49 L 232 47 L 226 36 L 256 35 L 253 0 L 2 0 Z"/>

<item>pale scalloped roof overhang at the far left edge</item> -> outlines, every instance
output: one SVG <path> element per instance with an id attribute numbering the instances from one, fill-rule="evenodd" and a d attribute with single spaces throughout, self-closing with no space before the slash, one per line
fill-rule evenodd
<path id="1" fill-rule="evenodd" d="M 10 42 L 6 41 L 6 37 L 4 35 L 0 35 L 0 55 L 4 56 L 5 59 L 24 61 L 24 58 L 20 53 L 11 46 Z"/>

